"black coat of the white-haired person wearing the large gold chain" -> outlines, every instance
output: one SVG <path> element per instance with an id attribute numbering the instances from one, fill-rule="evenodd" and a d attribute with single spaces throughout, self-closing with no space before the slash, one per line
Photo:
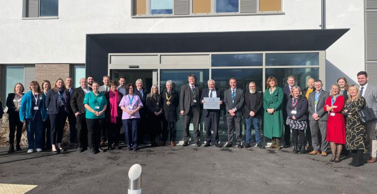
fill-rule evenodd
<path id="1" fill-rule="evenodd" d="M 178 92 L 176 92 L 174 89 L 170 91 L 170 104 L 166 105 L 167 99 L 166 99 L 166 93 L 167 90 L 161 92 L 162 96 L 162 109 L 164 111 L 164 116 L 166 121 L 168 122 L 176 122 L 177 121 L 177 107 L 179 105 L 179 96 Z"/>

